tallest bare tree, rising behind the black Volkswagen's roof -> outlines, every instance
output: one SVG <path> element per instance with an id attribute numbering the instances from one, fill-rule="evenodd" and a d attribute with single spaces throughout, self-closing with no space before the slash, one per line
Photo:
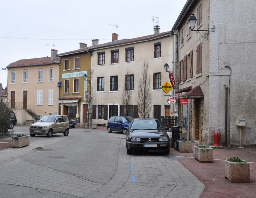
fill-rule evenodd
<path id="1" fill-rule="evenodd" d="M 143 66 L 141 69 L 141 75 L 139 77 L 139 93 L 137 98 L 138 113 L 142 118 L 151 112 L 152 109 L 152 97 L 150 92 L 151 76 L 149 73 L 149 61 L 144 59 Z"/>

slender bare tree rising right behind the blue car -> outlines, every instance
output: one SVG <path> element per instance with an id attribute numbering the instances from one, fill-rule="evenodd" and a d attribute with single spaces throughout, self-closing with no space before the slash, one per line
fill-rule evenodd
<path id="1" fill-rule="evenodd" d="M 132 92 L 130 91 L 131 90 L 131 87 L 133 85 L 131 85 L 129 82 L 133 82 L 133 79 L 130 79 L 132 78 L 132 76 L 130 76 L 130 72 L 126 71 L 126 75 L 125 75 L 125 80 L 123 82 L 123 92 L 122 92 L 122 96 L 121 96 L 121 100 L 122 100 L 122 105 L 124 106 L 125 108 L 125 111 L 124 111 L 124 115 L 129 115 L 129 112 L 130 112 L 130 105 L 131 105 L 131 100 L 132 100 Z"/>

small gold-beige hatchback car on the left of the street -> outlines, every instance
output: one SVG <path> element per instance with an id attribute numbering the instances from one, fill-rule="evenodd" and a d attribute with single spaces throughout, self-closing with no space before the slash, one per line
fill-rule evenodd
<path id="1" fill-rule="evenodd" d="M 63 133 L 68 136 L 69 121 L 66 115 L 44 115 L 38 122 L 32 124 L 29 133 L 35 135 L 47 135 L 52 137 L 54 133 Z"/>

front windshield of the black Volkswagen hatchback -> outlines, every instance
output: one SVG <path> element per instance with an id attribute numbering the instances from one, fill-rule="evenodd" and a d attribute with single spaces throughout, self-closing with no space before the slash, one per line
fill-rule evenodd
<path id="1" fill-rule="evenodd" d="M 158 120 L 134 120 L 132 126 L 130 127 L 131 130 L 163 130 L 161 123 Z"/>

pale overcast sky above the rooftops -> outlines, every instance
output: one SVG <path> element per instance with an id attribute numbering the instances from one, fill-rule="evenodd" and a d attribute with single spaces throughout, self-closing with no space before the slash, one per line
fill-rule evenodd
<path id="1" fill-rule="evenodd" d="M 0 0 L 0 68 L 20 59 L 51 56 L 119 39 L 154 34 L 152 16 L 160 32 L 170 31 L 187 0 Z M 8 37 L 8 38 L 7 38 Z M 19 75 L 19 74 L 16 74 Z M 21 74 L 22 75 L 22 74 Z M 0 70 L 7 86 L 7 71 Z M 8 86 L 7 86 L 8 87 Z"/>

